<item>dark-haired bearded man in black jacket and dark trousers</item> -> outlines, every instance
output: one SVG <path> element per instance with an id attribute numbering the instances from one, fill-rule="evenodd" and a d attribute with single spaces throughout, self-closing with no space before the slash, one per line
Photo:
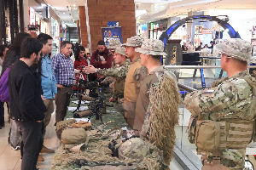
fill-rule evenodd
<path id="1" fill-rule="evenodd" d="M 21 170 L 35 170 L 42 148 L 42 125 L 46 108 L 41 99 L 38 74 L 31 66 L 38 64 L 43 44 L 34 38 L 21 43 L 20 59 L 9 72 L 10 118 L 20 128 Z"/>

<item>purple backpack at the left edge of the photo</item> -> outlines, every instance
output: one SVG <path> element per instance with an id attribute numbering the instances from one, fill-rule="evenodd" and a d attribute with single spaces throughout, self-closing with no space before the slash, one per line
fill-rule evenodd
<path id="1" fill-rule="evenodd" d="M 0 78 L 0 100 L 3 102 L 9 102 L 9 88 L 8 88 L 8 77 L 10 68 L 7 68 L 2 77 Z"/>

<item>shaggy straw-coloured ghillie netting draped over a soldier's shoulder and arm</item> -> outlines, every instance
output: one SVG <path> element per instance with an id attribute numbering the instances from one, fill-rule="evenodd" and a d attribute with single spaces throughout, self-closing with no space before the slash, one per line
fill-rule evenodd
<path id="1" fill-rule="evenodd" d="M 178 123 L 178 105 L 181 103 L 177 82 L 165 74 L 159 85 L 150 88 L 149 100 L 148 139 L 164 151 L 165 162 L 169 165 L 176 139 L 174 127 Z"/>

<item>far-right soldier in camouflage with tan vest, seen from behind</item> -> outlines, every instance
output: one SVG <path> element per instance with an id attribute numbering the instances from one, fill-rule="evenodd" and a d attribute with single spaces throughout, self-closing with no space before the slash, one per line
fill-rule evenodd
<path id="1" fill-rule="evenodd" d="M 200 132 L 200 127 L 204 125 L 200 122 L 213 122 L 218 127 L 219 132 L 216 133 L 219 133 L 219 144 L 216 150 L 207 150 L 210 139 L 204 141 L 204 138 L 197 138 L 195 135 L 197 151 L 202 155 L 205 166 L 243 169 L 246 147 L 253 137 L 256 114 L 256 82 L 247 69 L 247 64 L 252 59 L 252 48 L 249 42 L 235 38 L 214 48 L 221 53 L 221 67 L 228 77 L 214 82 L 212 88 L 188 94 L 185 106 L 192 117 L 197 117 L 197 135 L 203 134 L 202 131 L 210 132 L 207 128 Z M 200 149 L 204 144 L 207 147 Z"/>

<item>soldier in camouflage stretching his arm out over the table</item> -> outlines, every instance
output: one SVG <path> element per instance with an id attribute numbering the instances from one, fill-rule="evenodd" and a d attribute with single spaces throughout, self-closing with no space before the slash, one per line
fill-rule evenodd
<path id="1" fill-rule="evenodd" d="M 113 96 L 109 101 L 118 101 L 124 98 L 125 77 L 128 72 L 130 62 L 125 57 L 125 48 L 116 48 L 113 59 L 115 67 L 109 69 L 96 69 L 93 65 L 84 68 L 85 72 L 94 73 L 104 77 L 114 77 Z"/>

